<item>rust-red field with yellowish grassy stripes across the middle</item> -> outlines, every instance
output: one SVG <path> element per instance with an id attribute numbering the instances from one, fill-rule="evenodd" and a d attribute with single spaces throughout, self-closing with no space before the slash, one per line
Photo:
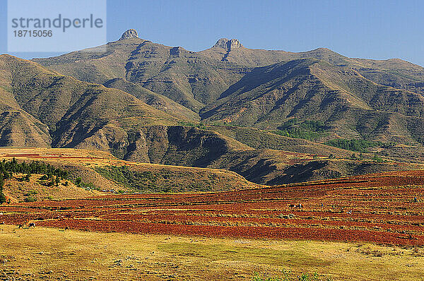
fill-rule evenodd
<path id="1" fill-rule="evenodd" d="M 100 232 L 424 245 L 424 171 L 220 193 L 17 203 L 1 205 L 0 213 L 8 224 Z"/>

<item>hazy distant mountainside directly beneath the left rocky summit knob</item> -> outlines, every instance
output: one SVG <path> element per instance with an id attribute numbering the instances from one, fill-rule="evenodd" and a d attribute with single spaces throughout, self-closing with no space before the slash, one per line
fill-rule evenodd
<path id="1" fill-rule="evenodd" d="M 195 112 L 245 73 L 237 66 L 225 67 L 227 64 L 182 47 L 167 47 L 139 38 L 110 42 L 106 49 L 102 54 L 84 50 L 35 61 L 88 82 L 103 84 L 122 78 L 138 83 Z"/>

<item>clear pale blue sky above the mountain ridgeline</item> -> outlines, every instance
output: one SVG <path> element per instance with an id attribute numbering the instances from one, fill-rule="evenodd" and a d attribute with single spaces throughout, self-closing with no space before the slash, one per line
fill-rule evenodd
<path id="1" fill-rule="evenodd" d="M 351 57 L 400 58 L 424 66 L 423 12 L 419 0 L 109 0 L 107 40 L 134 28 L 143 39 L 191 51 L 227 37 L 249 48 L 327 47 Z M 0 25 L 0 53 L 6 53 L 6 0 L 0 0 Z"/>

